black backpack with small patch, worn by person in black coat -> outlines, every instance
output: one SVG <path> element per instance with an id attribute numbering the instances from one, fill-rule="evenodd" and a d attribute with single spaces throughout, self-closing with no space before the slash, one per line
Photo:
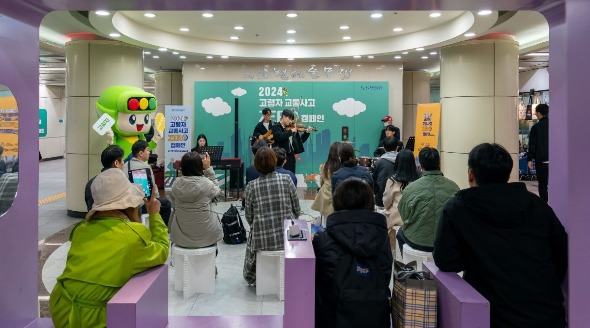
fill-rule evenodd
<path id="1" fill-rule="evenodd" d="M 345 254 L 334 270 L 335 327 L 391 327 L 389 282 L 375 259 Z"/>

